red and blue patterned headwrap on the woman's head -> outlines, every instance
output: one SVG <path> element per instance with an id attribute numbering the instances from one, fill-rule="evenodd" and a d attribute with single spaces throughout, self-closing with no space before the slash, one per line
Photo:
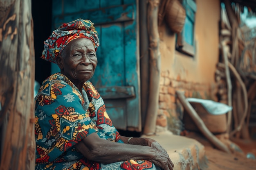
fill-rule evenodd
<path id="1" fill-rule="evenodd" d="M 56 63 L 56 57 L 70 41 L 77 38 L 88 38 L 94 44 L 95 51 L 99 47 L 99 37 L 90 20 L 77 19 L 64 23 L 52 32 L 44 41 L 41 58 Z"/>

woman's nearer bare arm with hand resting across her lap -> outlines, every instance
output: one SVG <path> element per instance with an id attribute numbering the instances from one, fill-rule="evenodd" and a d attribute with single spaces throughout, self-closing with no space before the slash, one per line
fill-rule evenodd
<path id="1" fill-rule="evenodd" d="M 150 146 L 110 142 L 106 139 L 101 139 L 97 133 L 92 133 L 85 137 L 75 145 L 75 148 L 87 159 L 100 163 L 144 159 L 151 161 L 164 170 L 173 169 L 173 163 L 167 152 L 162 152 Z"/>

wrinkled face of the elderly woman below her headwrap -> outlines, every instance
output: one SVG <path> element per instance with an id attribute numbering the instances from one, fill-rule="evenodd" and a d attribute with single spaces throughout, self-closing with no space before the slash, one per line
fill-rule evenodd
<path id="1" fill-rule="evenodd" d="M 61 73 L 75 85 L 88 81 L 94 74 L 98 60 L 90 39 L 78 38 L 70 41 L 64 48 Z"/>

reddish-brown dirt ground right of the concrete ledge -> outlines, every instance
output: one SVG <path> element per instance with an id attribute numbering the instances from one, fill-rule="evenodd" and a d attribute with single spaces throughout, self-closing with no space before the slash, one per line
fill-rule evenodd
<path id="1" fill-rule="evenodd" d="M 228 154 L 214 148 L 209 140 L 198 133 L 187 133 L 186 137 L 198 140 L 205 147 L 207 168 L 200 170 L 256 170 L 256 160 L 246 157 L 247 153 L 256 155 L 256 140 L 232 139 L 231 143 L 239 146 L 243 153 Z"/>

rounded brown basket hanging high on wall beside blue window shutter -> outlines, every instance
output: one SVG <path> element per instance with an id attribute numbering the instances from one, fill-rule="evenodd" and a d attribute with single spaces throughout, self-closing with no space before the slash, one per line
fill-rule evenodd
<path id="1" fill-rule="evenodd" d="M 186 11 L 178 0 L 169 0 L 165 7 L 165 21 L 169 28 L 180 33 L 186 19 Z"/>

